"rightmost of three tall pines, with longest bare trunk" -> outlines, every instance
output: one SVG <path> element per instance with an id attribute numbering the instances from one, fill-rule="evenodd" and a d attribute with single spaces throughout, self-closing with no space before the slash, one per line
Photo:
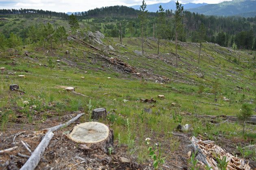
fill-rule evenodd
<path id="1" fill-rule="evenodd" d="M 183 18 L 183 6 L 176 2 L 176 11 L 175 11 L 175 49 L 176 49 L 176 67 L 178 67 L 178 55 L 177 55 L 177 44 L 178 44 L 178 31 L 183 29 L 182 24 Z"/>

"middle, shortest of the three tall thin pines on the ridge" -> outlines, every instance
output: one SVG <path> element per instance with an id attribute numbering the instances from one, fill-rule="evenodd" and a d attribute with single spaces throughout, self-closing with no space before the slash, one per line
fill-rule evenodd
<path id="1" fill-rule="evenodd" d="M 158 13 L 158 21 L 157 21 L 157 38 L 158 38 L 158 49 L 157 49 L 157 55 L 159 54 L 159 42 L 160 39 L 163 39 L 165 36 L 165 23 L 166 23 L 166 15 L 165 15 L 165 10 L 163 7 L 160 5 L 159 10 L 157 11 Z"/>

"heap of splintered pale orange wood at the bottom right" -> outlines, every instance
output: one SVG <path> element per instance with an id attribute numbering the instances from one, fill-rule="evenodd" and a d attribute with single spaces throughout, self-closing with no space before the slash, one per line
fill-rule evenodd
<path id="1" fill-rule="evenodd" d="M 217 144 L 215 144 L 212 140 L 204 140 L 202 138 L 195 138 L 193 136 L 191 138 L 191 143 L 195 151 L 197 151 L 196 159 L 198 159 L 199 163 L 203 166 L 211 167 L 214 170 L 219 170 L 216 156 L 220 159 L 223 159 L 226 156 L 226 160 L 228 161 L 227 168 L 230 170 L 243 169 L 250 170 L 249 161 L 247 164 L 243 159 L 239 157 L 233 156 L 230 153 L 227 153 Z"/>

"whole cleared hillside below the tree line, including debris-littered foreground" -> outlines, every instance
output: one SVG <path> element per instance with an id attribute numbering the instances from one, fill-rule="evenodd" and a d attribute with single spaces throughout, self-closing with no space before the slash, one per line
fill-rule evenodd
<path id="1" fill-rule="evenodd" d="M 183 132 L 185 136 L 202 135 L 240 157 L 243 155 L 236 146 L 255 144 L 255 125 L 247 123 L 243 135 L 240 123 L 225 121 L 226 115 L 239 113 L 241 104 L 245 102 L 250 103 L 253 109 L 256 107 L 255 51 L 233 51 L 213 43 L 203 43 L 202 59 L 198 64 L 199 45 L 180 42 L 176 68 L 175 44 L 172 41 L 167 41 L 165 47 L 165 40 L 161 40 L 160 54 L 156 55 L 157 40 L 147 38 L 145 54 L 142 55 L 140 38 L 123 38 L 123 45 L 119 45 L 119 38 L 103 38 L 104 44 L 99 45 L 79 32 L 73 36 L 79 41 L 69 37 L 64 47 L 55 44 L 50 49 L 49 45 L 43 48 L 33 44 L 1 53 L 0 67 L 5 70 L 0 74 L 0 150 L 12 147 L 13 135 L 21 130 L 25 131 L 24 134 L 17 136 L 15 141 L 24 140 L 34 150 L 44 128 L 66 122 L 76 115 L 72 111 L 86 113 L 76 123 L 91 121 L 92 109 L 100 107 L 108 111 L 107 119 L 100 122 L 113 128 L 115 135 L 112 159 L 115 160 L 115 155 L 125 155 L 132 160 L 132 165 L 136 161 L 143 169 L 149 164 L 152 166 L 145 138 L 151 138 L 152 145 L 161 144 L 165 166 L 172 169 L 176 166 L 191 167 L 187 158 L 188 138 L 171 133 L 176 131 L 179 123 L 191 125 L 187 132 Z M 108 45 L 113 46 L 114 51 L 109 50 Z M 24 55 L 26 51 L 28 56 Z M 132 66 L 133 71 L 109 62 L 110 57 L 125 62 L 125 66 Z M 52 70 L 49 59 L 54 62 Z M 20 74 L 25 78 L 19 78 Z M 217 80 L 219 90 L 215 101 L 212 90 Z M 11 84 L 18 84 L 26 93 L 10 91 Z M 91 98 L 65 91 L 65 87 L 70 86 Z M 200 86 L 204 87 L 202 94 L 198 93 Z M 165 98 L 158 98 L 159 94 Z M 223 100 L 224 97 L 230 102 Z M 141 99 L 150 98 L 154 98 L 156 103 L 141 102 Z M 219 117 L 210 119 L 197 115 Z M 43 156 L 47 163 L 40 162 L 38 169 L 47 165 L 71 168 L 78 163 L 72 160 L 77 155 L 90 158 L 91 163 L 86 165 L 93 168 L 125 167 L 126 164 L 122 163 L 102 165 L 100 160 L 106 156 L 104 153 L 81 151 L 80 145 L 65 135 L 76 123 L 55 132 Z M 18 147 L 10 154 L 0 155 L 0 164 L 17 152 L 29 155 L 22 145 Z M 256 167 L 255 151 L 245 159 L 249 160 L 252 168 Z M 26 158 L 14 157 L 9 166 L 20 168 L 25 161 Z M 86 165 L 80 164 L 76 168 L 88 168 Z"/>

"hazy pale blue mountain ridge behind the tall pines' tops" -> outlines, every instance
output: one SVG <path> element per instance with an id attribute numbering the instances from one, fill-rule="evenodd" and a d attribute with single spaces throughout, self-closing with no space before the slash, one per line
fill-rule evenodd
<path id="1" fill-rule="evenodd" d="M 164 9 L 169 9 L 169 10 L 175 10 L 176 9 L 176 2 L 175 1 L 170 1 L 170 2 L 166 2 L 166 3 L 157 3 L 157 4 L 147 4 L 147 10 L 149 12 L 156 12 L 158 9 L 159 9 L 159 6 L 162 5 L 162 7 Z M 200 6 L 205 6 L 207 5 L 206 3 L 198 3 L 198 4 L 195 4 L 195 3 L 187 3 L 187 4 L 182 4 L 182 6 L 184 7 L 184 9 L 189 9 L 189 8 L 197 8 L 197 7 L 200 7 Z M 140 5 L 133 5 L 133 6 L 130 6 L 132 8 L 135 8 L 137 10 L 139 10 L 140 8 Z"/>

